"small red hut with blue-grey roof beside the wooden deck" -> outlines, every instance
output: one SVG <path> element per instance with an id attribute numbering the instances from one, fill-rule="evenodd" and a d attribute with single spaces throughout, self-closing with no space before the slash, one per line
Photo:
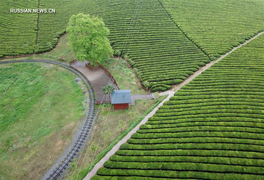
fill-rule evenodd
<path id="1" fill-rule="evenodd" d="M 111 93 L 111 104 L 114 105 L 114 110 L 128 109 L 131 103 L 130 90 L 115 90 Z"/>

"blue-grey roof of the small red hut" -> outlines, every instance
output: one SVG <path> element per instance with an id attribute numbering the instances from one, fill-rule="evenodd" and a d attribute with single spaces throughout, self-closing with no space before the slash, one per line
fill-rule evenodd
<path id="1" fill-rule="evenodd" d="M 130 90 L 115 90 L 111 93 L 111 101 L 111 104 L 131 103 Z"/>

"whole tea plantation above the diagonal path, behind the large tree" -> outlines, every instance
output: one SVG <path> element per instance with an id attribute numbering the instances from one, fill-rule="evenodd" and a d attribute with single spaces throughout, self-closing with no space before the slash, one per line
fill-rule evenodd
<path id="1" fill-rule="evenodd" d="M 230 4 L 228 1 L 0 2 L 0 14 L 3 16 L 0 19 L 0 57 L 48 51 L 55 47 L 59 36 L 65 32 L 72 14 L 98 15 L 110 30 L 108 38 L 113 48 L 121 50 L 121 55 L 128 55 L 133 68 L 137 68 L 142 84 L 152 91 L 163 91 L 169 89 L 170 85 L 182 82 L 200 66 L 209 63 L 209 58 L 215 60 L 234 46 L 263 31 L 263 24 L 260 22 L 263 19 L 261 1 L 254 2 L 256 5 L 248 4 L 246 0 L 238 1 L 232 4 L 230 11 L 226 10 Z M 189 4 L 203 5 L 193 7 Z M 250 8 L 246 15 L 243 15 L 244 6 Z M 11 14 L 9 11 L 10 8 L 21 7 L 53 8 L 56 13 Z M 200 11 L 200 7 L 204 8 L 203 11 Z M 180 8 L 182 11 L 178 12 Z M 234 10 L 235 17 L 230 15 Z M 204 16 L 197 14 L 198 12 Z M 207 21 L 207 18 L 212 20 Z M 230 19 L 232 21 L 229 22 Z M 222 25 L 224 23 L 226 25 Z"/>

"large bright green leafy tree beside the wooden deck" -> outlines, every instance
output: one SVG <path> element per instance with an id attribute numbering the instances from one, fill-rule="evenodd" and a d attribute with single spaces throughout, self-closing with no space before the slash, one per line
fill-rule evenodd
<path id="1" fill-rule="evenodd" d="M 90 17 L 85 14 L 71 16 L 66 29 L 69 46 L 79 61 L 88 60 L 91 65 L 101 63 L 103 57 L 109 58 L 113 50 L 109 40 L 109 29 L 97 16 Z"/>

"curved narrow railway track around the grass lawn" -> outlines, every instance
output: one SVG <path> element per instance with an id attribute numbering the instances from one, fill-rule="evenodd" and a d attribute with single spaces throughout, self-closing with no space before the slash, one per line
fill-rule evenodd
<path id="1" fill-rule="evenodd" d="M 87 86 L 88 92 L 89 92 L 89 111 L 88 115 L 86 117 L 86 121 L 83 124 L 83 129 L 80 135 L 78 136 L 77 142 L 74 144 L 74 147 L 70 150 L 70 152 L 67 154 L 67 156 L 64 158 L 64 161 L 53 171 L 53 174 L 50 174 L 47 178 L 47 180 L 52 180 L 52 179 L 57 179 L 60 177 L 60 174 L 69 167 L 70 162 L 72 161 L 73 158 L 77 157 L 77 154 L 79 152 L 79 149 L 84 145 L 84 140 L 88 138 L 89 135 L 89 130 L 92 127 L 93 124 L 93 118 L 94 118 L 94 104 L 95 104 L 95 99 L 94 99 L 94 93 L 93 93 L 93 88 L 89 82 L 89 80 L 77 69 L 62 64 L 58 63 L 55 61 L 50 61 L 50 60 L 10 60 L 10 61 L 1 61 L 0 64 L 7 64 L 7 63 L 30 63 L 30 62 L 43 62 L 43 63 L 50 63 L 50 64 L 56 64 L 60 65 L 63 68 L 66 68 L 72 73 L 75 73 Z"/>

